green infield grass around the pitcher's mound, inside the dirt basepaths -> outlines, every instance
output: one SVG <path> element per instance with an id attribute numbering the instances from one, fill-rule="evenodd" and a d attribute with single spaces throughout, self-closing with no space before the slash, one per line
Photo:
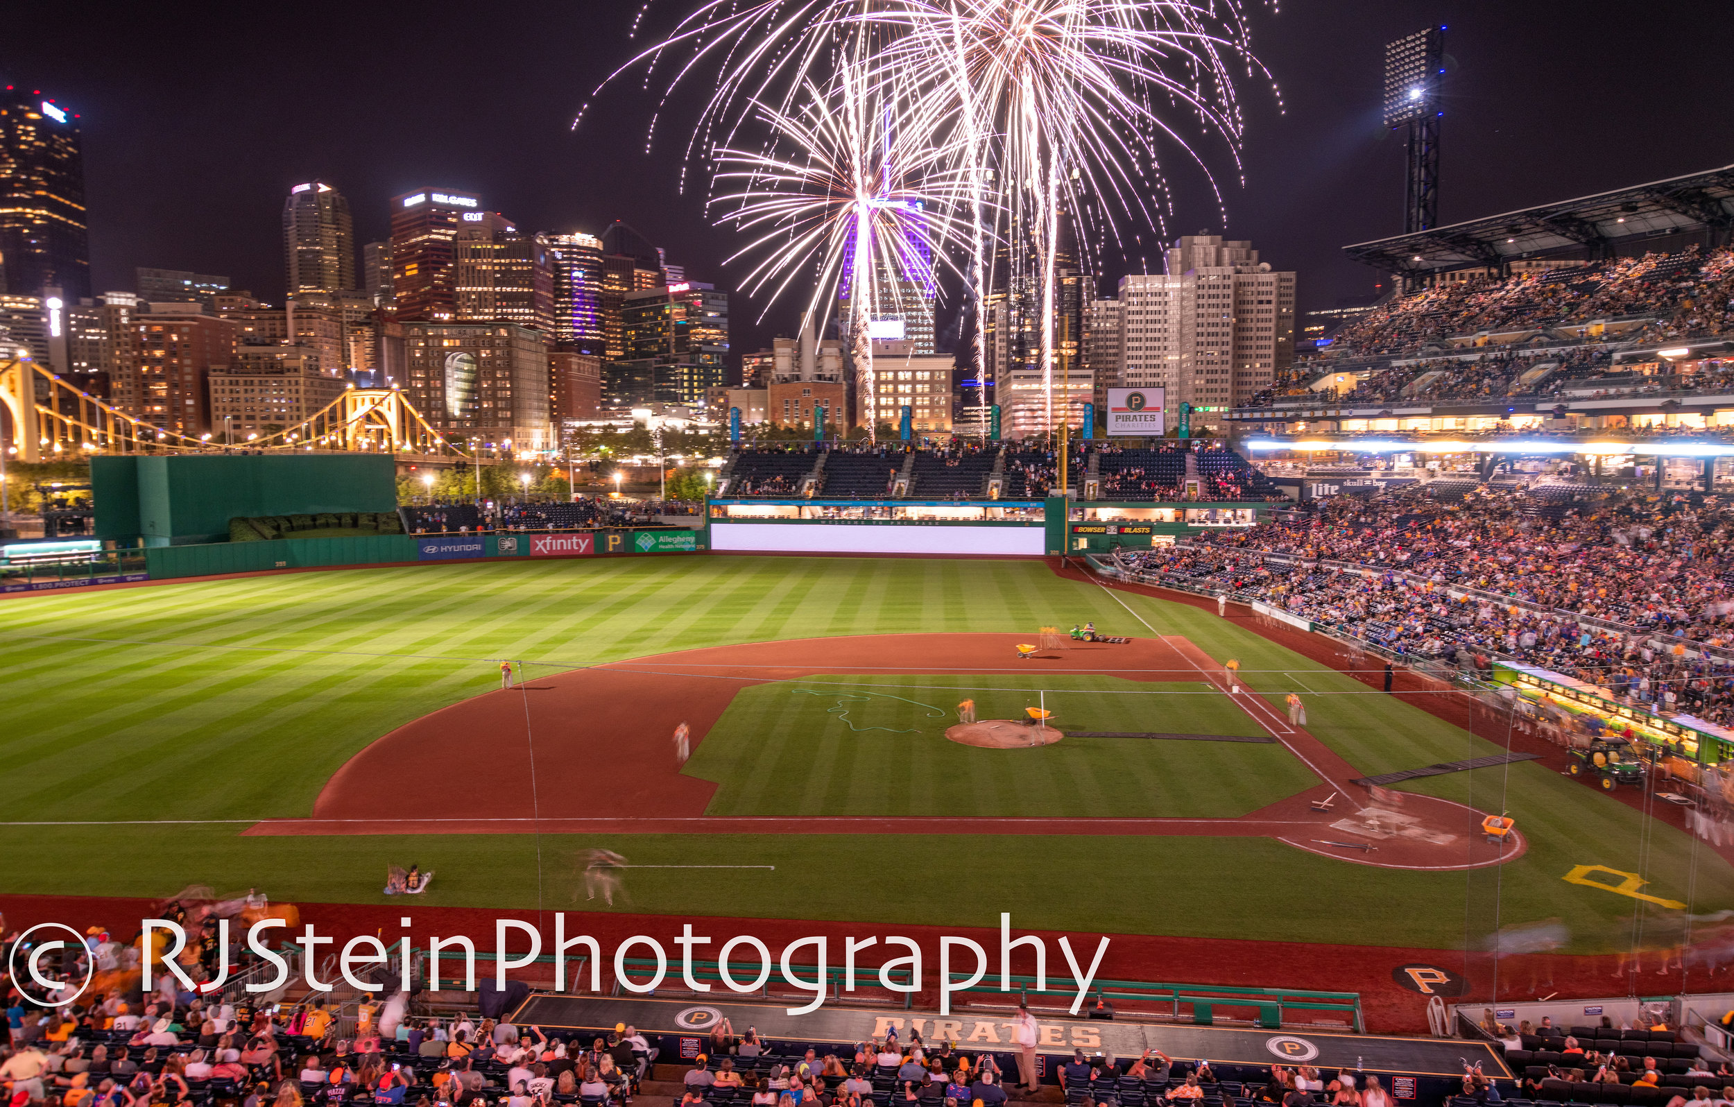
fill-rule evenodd
<path id="1" fill-rule="evenodd" d="M 945 729 L 966 696 L 978 718 L 1021 718 L 1046 703 L 1063 730 L 1262 734 L 1207 684 L 836 675 L 735 694 L 685 772 L 718 783 L 713 816 L 1235 817 L 1318 783 L 1278 744 L 1068 736 L 1035 750 L 959 746 Z"/>

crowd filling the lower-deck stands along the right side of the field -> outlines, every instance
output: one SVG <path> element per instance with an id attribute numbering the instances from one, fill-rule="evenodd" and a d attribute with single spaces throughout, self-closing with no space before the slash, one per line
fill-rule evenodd
<path id="1" fill-rule="evenodd" d="M 1479 486 L 1439 501 L 1420 486 L 1117 557 L 1396 654 L 1465 670 L 1516 658 L 1727 725 L 1731 538 L 1734 505 L 1701 493 L 1561 503 Z"/>

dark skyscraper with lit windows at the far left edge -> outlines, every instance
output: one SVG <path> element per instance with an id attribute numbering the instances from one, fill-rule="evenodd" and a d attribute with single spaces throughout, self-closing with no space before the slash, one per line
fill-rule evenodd
<path id="1" fill-rule="evenodd" d="M 73 113 L 40 90 L 0 92 L 0 293 L 90 295 L 85 163 Z"/>

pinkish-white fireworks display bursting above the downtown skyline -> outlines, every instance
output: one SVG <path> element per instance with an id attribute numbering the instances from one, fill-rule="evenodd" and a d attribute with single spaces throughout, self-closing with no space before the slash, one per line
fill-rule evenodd
<path id="1" fill-rule="evenodd" d="M 886 165 L 902 175 L 902 187 L 926 180 L 916 191 L 945 198 L 945 219 L 928 233 L 936 257 L 968 259 L 962 271 L 976 302 L 980 370 L 987 368 L 981 304 L 997 279 L 997 243 L 1009 246 L 1006 276 L 1039 290 L 1049 427 L 1061 226 L 1070 220 L 1085 267 L 1098 241 L 1113 238 L 1124 246 L 1117 217 L 1165 234 L 1165 147 L 1203 170 L 1221 210 L 1209 158 L 1188 135 L 1224 146 L 1238 175 L 1240 82 L 1269 80 L 1252 54 L 1242 0 L 707 0 L 628 68 L 643 66 L 649 82 L 669 59 L 676 59 L 669 90 L 714 75 L 688 163 L 707 154 L 718 163 L 718 180 L 747 174 L 758 182 L 732 196 L 740 205 L 733 217 L 742 227 L 782 229 L 782 252 L 754 267 L 756 286 L 775 274 L 779 291 L 799 272 L 791 253 L 799 248 L 818 259 L 822 288 L 825 274 L 832 286 L 844 276 L 846 238 L 777 206 L 820 191 L 813 179 L 796 186 L 787 146 L 805 149 L 813 165 L 836 163 L 836 151 L 846 147 L 839 142 L 864 135 L 843 135 L 841 123 L 822 120 L 848 118 L 855 111 L 843 102 L 848 97 L 872 101 L 876 111 L 893 104 L 903 125 L 895 132 L 898 158 Z M 772 130 L 765 153 L 744 153 L 749 144 L 740 134 L 749 121 Z M 714 144 L 713 135 L 720 135 Z M 818 154 L 815 141 L 829 153 Z M 921 142 L 931 147 L 917 149 Z M 772 168 L 779 158 L 780 168 Z M 865 187 L 860 175 L 838 179 Z M 862 213 L 855 219 L 876 224 Z M 805 229 L 794 233 L 794 226 Z M 884 246 L 891 253 L 874 259 L 896 255 Z M 808 319 L 820 295 L 808 304 Z"/>

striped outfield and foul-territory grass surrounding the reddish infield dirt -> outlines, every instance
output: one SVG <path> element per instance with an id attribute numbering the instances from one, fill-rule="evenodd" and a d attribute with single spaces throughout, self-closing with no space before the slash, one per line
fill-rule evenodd
<path id="1" fill-rule="evenodd" d="M 440 873 L 432 904 L 560 906 L 570 902 L 577 848 L 614 845 L 643 864 L 709 857 L 777 866 L 714 880 L 633 873 L 623 909 L 662 913 L 969 925 L 992 923 L 1006 907 L 1020 925 L 1079 932 L 1427 947 L 1477 944 L 1495 925 L 1557 916 L 1576 935 L 1574 949 L 1623 947 L 1639 901 L 1562 881 L 1576 864 L 1639 873 L 1646 894 L 1689 901 L 1699 913 L 1734 907 L 1734 869 L 1713 850 L 1536 765 L 1417 784 L 1509 810 L 1529 835 L 1526 857 L 1467 876 L 1373 869 L 1261 838 L 239 836 L 253 819 L 305 816 L 349 757 L 392 727 L 492 687 L 501 658 L 524 659 L 534 673 L 730 642 L 1032 632 L 1082 619 L 1105 633 L 1181 633 L 1217 659 L 1238 658 L 1242 680 L 1274 699 L 1302 691 L 1309 729 L 1365 772 L 1496 750 L 1214 612 L 1065 581 L 1037 562 L 520 560 L 9 597 L 0 600 L 0 892 L 165 895 L 196 881 L 264 887 L 288 901 L 380 902 L 385 864 L 414 859 Z M 1016 703 L 1020 694 L 1009 696 Z M 1181 699 L 1198 713 L 1186 727 L 1087 729 L 1231 725 L 1222 699 L 1165 699 L 1164 718 Z M 746 713 L 753 703 L 737 708 Z M 1200 722 L 1210 713 L 1219 718 Z M 714 772 L 709 758 L 735 741 L 707 743 L 692 772 Z M 1274 750 L 1150 746 L 1132 753 L 1158 758 L 1144 765 L 1155 774 L 1146 779 L 1188 803 L 1250 802 L 1184 796 L 1224 788 L 1190 758 Z M 1170 753 L 1174 746 L 1181 750 Z M 1188 763 L 1170 770 L 1160 758 Z M 739 763 L 713 779 L 735 781 L 718 798 L 740 809 L 803 814 L 820 767 L 812 750 L 782 750 L 763 776 Z M 968 781 L 948 779 L 952 765 L 898 770 L 903 783 L 929 781 L 940 796 L 969 791 Z M 1146 786 L 1136 770 L 1108 772 L 1124 791 Z M 1288 788 L 1288 772 L 1271 765 L 1261 786 Z M 827 791 L 818 814 L 832 814 L 827 802 L 883 802 L 874 796 L 881 786 L 860 770 L 832 776 L 853 788 Z M 206 822 L 218 819 L 232 822 Z M 936 878 L 968 881 L 966 892 L 942 892 Z M 983 904 L 980 920 L 969 904 Z"/>

